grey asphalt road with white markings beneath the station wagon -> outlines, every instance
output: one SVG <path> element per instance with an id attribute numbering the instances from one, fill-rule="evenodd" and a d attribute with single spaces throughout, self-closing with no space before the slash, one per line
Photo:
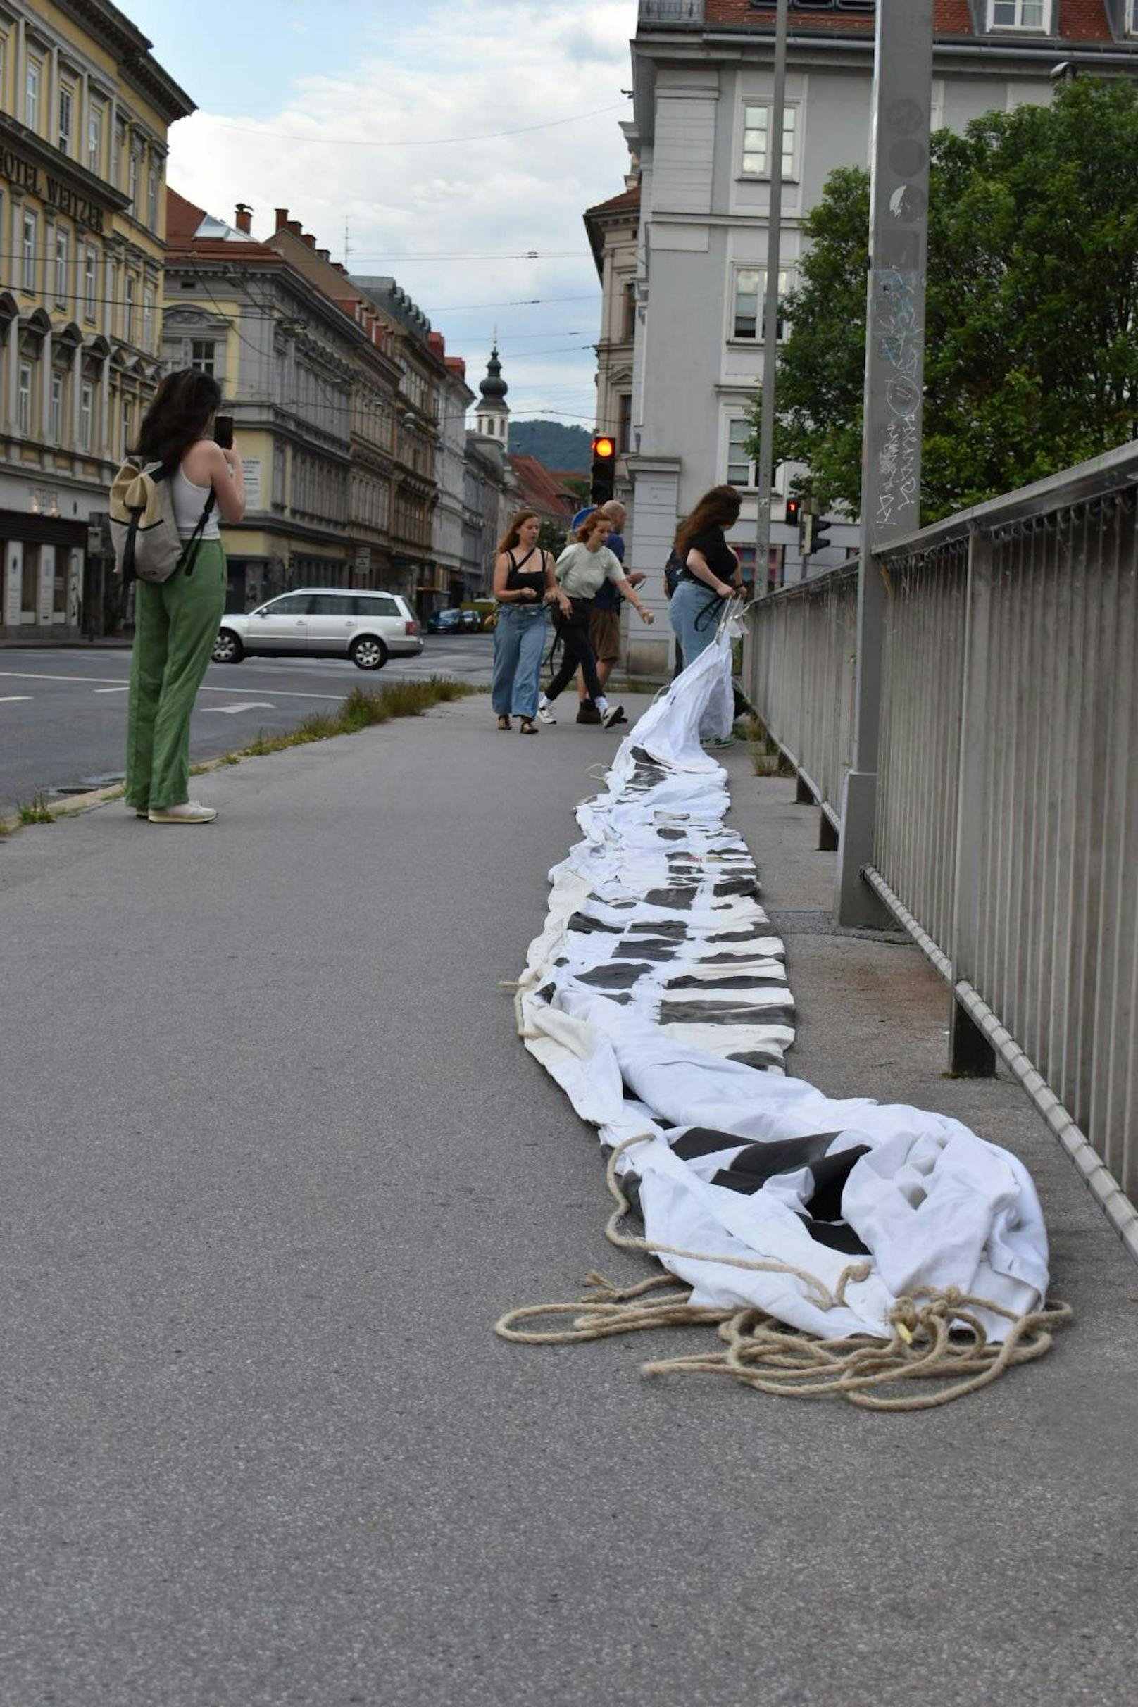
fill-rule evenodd
<path id="1" fill-rule="evenodd" d="M 247 746 L 259 729 L 293 729 L 351 688 L 457 676 L 490 685 L 493 635 L 428 635 L 418 657 L 362 671 L 346 659 L 254 657 L 212 664 L 198 695 L 195 761 Z M 126 749 L 130 652 L 0 650 L 0 818 L 38 794 L 78 794 L 119 782 Z"/>

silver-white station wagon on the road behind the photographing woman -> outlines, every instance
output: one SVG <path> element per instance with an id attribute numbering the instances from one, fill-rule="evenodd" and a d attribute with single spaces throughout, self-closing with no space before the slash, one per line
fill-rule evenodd
<path id="1" fill-rule="evenodd" d="M 213 642 L 215 664 L 259 657 L 350 657 L 357 669 L 382 669 L 389 657 L 415 657 L 423 637 L 398 592 L 297 587 L 256 611 L 227 613 Z"/>

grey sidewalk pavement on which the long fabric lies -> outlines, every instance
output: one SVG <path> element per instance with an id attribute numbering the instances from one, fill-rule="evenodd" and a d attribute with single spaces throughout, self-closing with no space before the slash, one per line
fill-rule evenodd
<path id="1" fill-rule="evenodd" d="M 1075 1325 L 909 1417 L 493 1337 L 642 1272 L 498 988 L 616 744 L 466 700 L 201 777 L 203 830 L 0 845 L 0 1700 L 1133 1700 L 1138 1272 L 1019 1089 L 942 1075 L 918 951 L 829 934 L 742 748 L 792 1070 L 1024 1156 Z"/>

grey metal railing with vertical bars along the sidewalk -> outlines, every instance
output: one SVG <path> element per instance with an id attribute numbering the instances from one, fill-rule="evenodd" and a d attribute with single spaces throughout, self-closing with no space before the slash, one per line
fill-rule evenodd
<path id="1" fill-rule="evenodd" d="M 1135 1255 L 1138 1217 L 1111 1174 L 1138 1193 L 1136 493 L 1133 444 L 875 556 L 863 872 L 950 982 L 954 1024 L 1010 1062 Z M 848 635 L 850 579 L 756 606 L 758 710 L 831 814 L 851 688 L 827 618 L 839 608 Z"/>

